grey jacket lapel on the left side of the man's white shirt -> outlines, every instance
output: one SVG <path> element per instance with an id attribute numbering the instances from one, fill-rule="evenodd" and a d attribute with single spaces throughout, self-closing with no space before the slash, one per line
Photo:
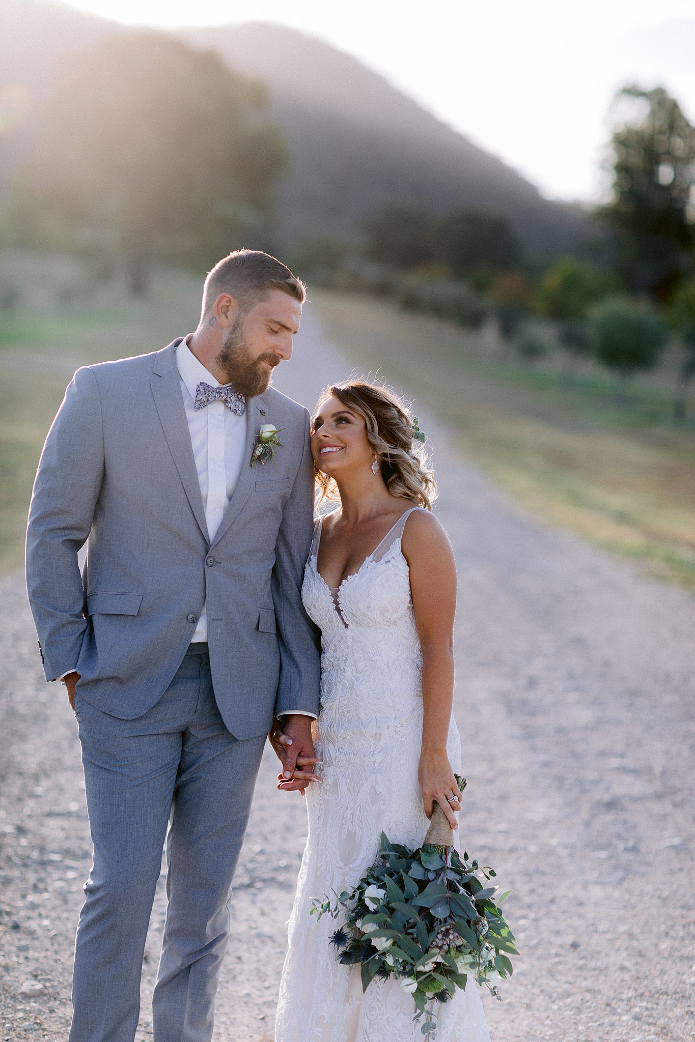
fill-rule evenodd
<path id="1" fill-rule="evenodd" d="M 174 341 L 154 356 L 154 375 L 152 376 L 152 394 L 164 427 L 169 450 L 174 457 L 174 464 L 185 491 L 191 510 L 198 526 L 208 542 L 207 523 L 203 501 L 200 495 L 198 471 L 193 455 L 191 431 L 183 408 L 180 377 L 176 368 L 176 348 L 180 340 Z"/>

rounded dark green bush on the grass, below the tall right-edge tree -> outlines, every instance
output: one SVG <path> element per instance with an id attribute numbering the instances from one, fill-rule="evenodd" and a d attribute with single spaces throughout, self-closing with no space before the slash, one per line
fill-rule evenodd
<path id="1" fill-rule="evenodd" d="M 589 315 L 594 354 L 623 383 L 641 369 L 652 369 L 668 340 L 668 327 L 646 301 L 607 297 Z"/>

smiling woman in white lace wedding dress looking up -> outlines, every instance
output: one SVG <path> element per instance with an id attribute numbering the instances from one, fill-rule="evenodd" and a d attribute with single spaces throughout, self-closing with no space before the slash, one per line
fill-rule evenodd
<path id="1" fill-rule="evenodd" d="M 363 994 L 359 967 L 341 965 L 329 944 L 336 923 L 309 915 L 313 898 L 352 889 L 374 862 L 381 832 L 420 846 L 435 801 L 456 824 L 456 576 L 430 513 L 436 486 L 418 436 L 395 395 L 363 381 L 329 388 L 314 418 L 317 483 L 322 498 L 337 490 L 340 506 L 316 523 L 302 588 L 321 630 L 321 777 L 302 761 L 278 786 L 305 791 L 308 839 L 276 1042 L 422 1038 L 398 981 L 375 979 Z M 437 1042 L 489 1042 L 472 982 L 437 1007 Z"/>

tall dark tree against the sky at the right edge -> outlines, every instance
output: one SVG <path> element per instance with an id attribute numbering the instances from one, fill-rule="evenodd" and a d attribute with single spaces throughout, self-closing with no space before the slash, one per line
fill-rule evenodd
<path id="1" fill-rule="evenodd" d="M 695 128 L 661 86 L 626 86 L 616 100 L 613 198 L 599 216 L 627 286 L 667 303 L 692 264 Z"/>

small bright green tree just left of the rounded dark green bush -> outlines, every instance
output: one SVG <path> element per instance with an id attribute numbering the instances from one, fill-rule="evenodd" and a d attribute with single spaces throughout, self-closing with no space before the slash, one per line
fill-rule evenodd
<path id="1" fill-rule="evenodd" d="M 541 315 L 554 319 L 561 343 L 575 358 L 589 348 L 587 313 L 602 296 L 603 280 L 595 268 L 576 257 L 560 257 L 545 272 L 537 293 Z"/>

